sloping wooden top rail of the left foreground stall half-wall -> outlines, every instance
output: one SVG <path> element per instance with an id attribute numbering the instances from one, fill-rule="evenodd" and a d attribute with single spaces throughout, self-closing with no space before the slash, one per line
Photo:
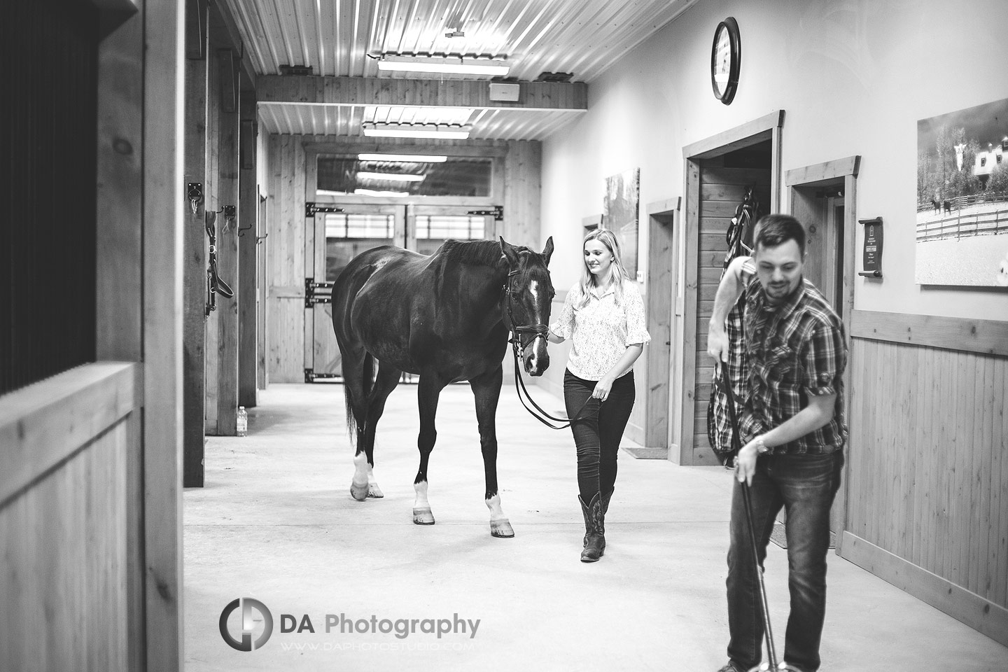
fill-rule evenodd
<path id="1" fill-rule="evenodd" d="M 141 406 L 138 364 L 71 369 L 0 399 L 0 506 Z"/>

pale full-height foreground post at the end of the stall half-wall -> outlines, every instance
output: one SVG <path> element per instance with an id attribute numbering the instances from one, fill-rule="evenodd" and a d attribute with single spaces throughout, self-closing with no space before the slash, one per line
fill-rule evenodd
<path id="1" fill-rule="evenodd" d="M 143 5 L 143 469 L 147 671 L 182 656 L 182 184 L 184 5 Z"/>

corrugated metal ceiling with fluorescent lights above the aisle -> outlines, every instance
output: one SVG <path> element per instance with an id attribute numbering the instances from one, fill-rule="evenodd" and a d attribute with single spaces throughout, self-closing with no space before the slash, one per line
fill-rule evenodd
<path id="1" fill-rule="evenodd" d="M 380 53 L 504 56 L 509 78 L 571 73 L 591 83 L 697 0 L 226 0 L 258 75 L 309 65 L 313 75 L 382 78 Z M 464 36 L 448 37 L 459 31 Z M 422 77 L 422 76 L 421 76 Z M 365 106 L 260 106 L 271 133 L 359 135 Z M 414 114 L 392 111 L 392 114 Z M 543 139 L 577 111 L 477 110 L 474 138 Z"/>

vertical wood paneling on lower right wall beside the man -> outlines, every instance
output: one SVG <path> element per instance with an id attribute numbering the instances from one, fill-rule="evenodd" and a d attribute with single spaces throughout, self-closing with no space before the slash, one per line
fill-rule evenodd
<path id="1" fill-rule="evenodd" d="M 887 314 L 852 324 L 842 554 L 1008 644 L 1008 357 L 863 338 Z"/>

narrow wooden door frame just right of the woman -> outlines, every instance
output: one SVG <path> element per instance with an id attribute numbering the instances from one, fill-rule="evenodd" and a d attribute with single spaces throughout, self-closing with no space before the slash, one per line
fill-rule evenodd
<path id="1" fill-rule="evenodd" d="M 649 457 L 667 459 L 672 447 L 672 426 L 676 406 L 671 363 L 678 349 L 680 325 L 678 273 L 678 227 L 681 198 L 667 198 L 647 205 L 647 329 L 652 335 L 646 352 L 648 394 L 644 401 L 644 445 Z M 667 331 L 662 328 L 668 323 Z M 664 388 L 664 389 L 662 389 Z"/>

